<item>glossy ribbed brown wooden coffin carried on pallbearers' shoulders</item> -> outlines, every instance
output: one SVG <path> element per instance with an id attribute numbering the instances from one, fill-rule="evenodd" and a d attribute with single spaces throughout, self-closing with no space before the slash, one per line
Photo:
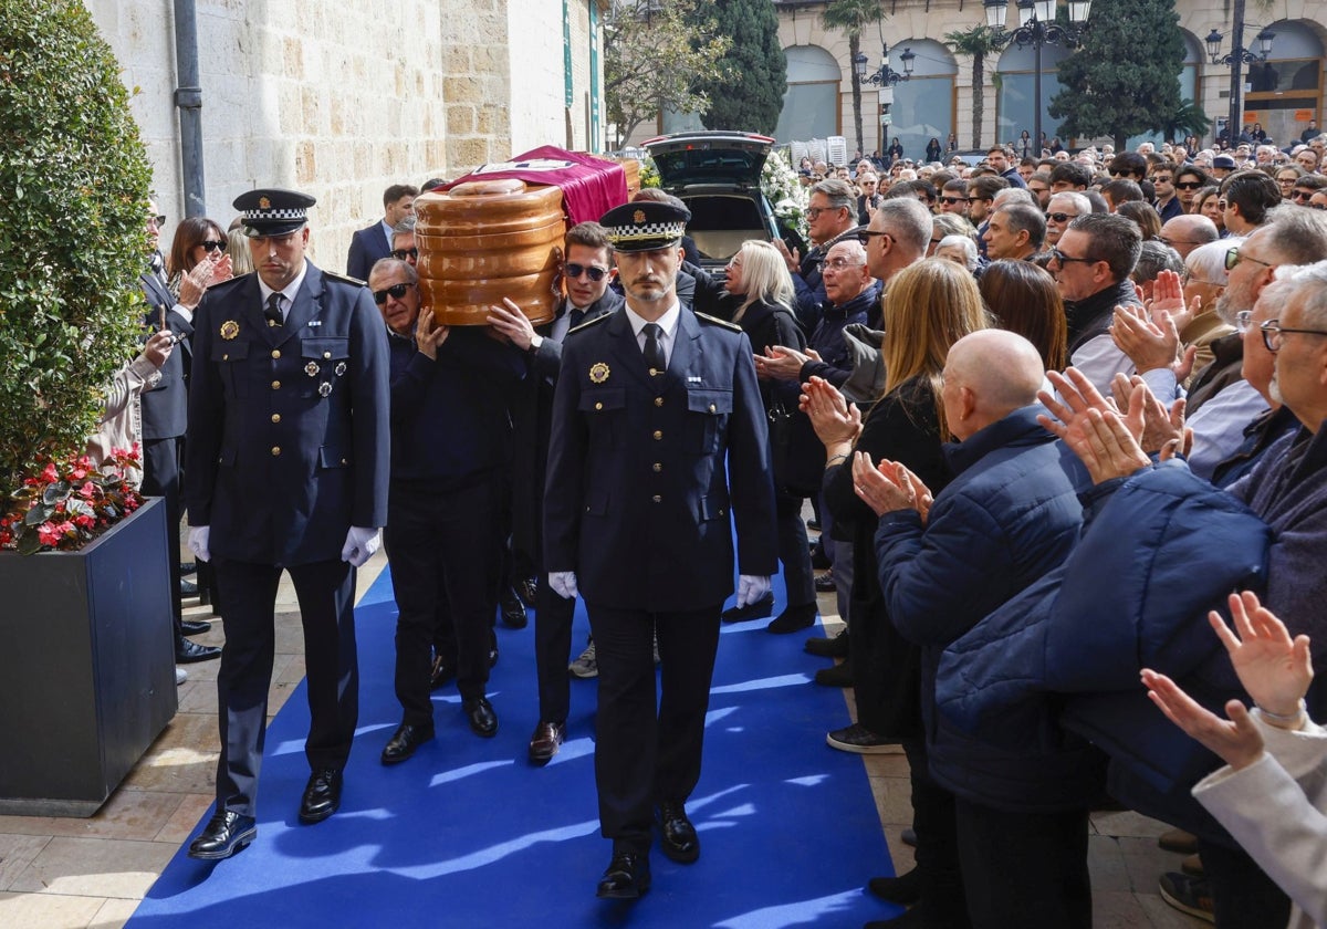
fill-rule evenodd
<path id="1" fill-rule="evenodd" d="M 563 192 L 503 178 L 415 198 L 419 295 L 443 325 L 487 325 L 510 299 L 533 324 L 553 319 L 563 260 Z"/>

